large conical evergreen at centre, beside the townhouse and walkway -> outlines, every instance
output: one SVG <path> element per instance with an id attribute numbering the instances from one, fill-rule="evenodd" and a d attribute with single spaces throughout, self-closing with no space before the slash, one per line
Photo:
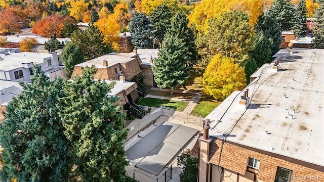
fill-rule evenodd
<path id="1" fill-rule="evenodd" d="M 152 70 L 155 83 L 159 88 L 170 88 L 170 94 L 190 77 L 191 67 L 187 66 L 190 57 L 184 45 L 183 39 L 167 34 L 158 57 L 154 60 Z"/>

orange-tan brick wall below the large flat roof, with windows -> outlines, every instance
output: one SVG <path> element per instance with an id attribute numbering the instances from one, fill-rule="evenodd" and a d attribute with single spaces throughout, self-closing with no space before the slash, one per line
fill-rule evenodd
<path id="1" fill-rule="evenodd" d="M 216 145 L 221 147 L 222 141 L 217 140 Z M 250 148 L 251 149 L 251 148 Z M 248 158 L 254 158 L 260 160 L 260 168 L 258 172 L 257 178 L 263 181 L 274 181 L 277 166 L 287 168 L 293 171 L 292 175 L 298 176 L 319 176 L 324 180 L 324 167 L 305 167 L 304 165 L 296 164 L 294 162 L 288 160 L 294 160 L 289 157 L 281 156 L 281 157 L 273 157 L 263 152 L 258 152 L 260 150 L 250 150 L 244 147 L 239 147 L 234 144 L 230 144 L 229 142 L 225 143 L 223 146 L 222 156 L 220 164 L 219 155 L 220 149 L 218 149 L 210 162 L 215 165 L 219 165 L 226 169 L 238 172 L 244 175 L 247 171 Z M 267 153 L 266 151 L 264 151 Z M 270 153 L 270 152 L 268 152 Z M 287 160 L 285 160 L 287 159 Z M 297 160 L 296 160 L 297 161 Z M 309 164 L 309 163 L 308 163 Z M 316 168 L 316 169 L 314 169 Z M 297 181 L 292 179 L 292 181 Z M 310 181 L 310 180 L 309 180 Z"/>

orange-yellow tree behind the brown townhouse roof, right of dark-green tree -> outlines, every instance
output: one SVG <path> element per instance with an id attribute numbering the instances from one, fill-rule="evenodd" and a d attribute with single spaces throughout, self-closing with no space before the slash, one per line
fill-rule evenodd
<path id="1" fill-rule="evenodd" d="M 118 42 L 120 41 L 120 37 L 118 35 L 120 31 L 120 25 L 118 22 L 110 16 L 108 18 L 99 19 L 95 26 L 98 26 L 102 34 L 104 35 L 104 42 L 106 44 L 112 43 L 113 49 L 115 51 L 119 50 Z"/>

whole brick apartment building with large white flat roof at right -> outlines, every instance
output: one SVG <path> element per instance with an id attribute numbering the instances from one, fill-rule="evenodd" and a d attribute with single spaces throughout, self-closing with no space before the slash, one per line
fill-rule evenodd
<path id="1" fill-rule="evenodd" d="M 199 181 L 324 180 L 324 50 L 280 50 L 206 118 Z"/>

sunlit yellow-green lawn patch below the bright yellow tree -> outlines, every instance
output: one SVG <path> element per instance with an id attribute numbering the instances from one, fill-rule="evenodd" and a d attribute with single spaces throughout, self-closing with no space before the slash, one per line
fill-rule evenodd
<path id="1" fill-rule="evenodd" d="M 196 107 L 194 107 L 191 114 L 201 115 L 206 117 L 209 113 L 211 113 L 221 102 L 216 101 L 214 98 L 203 96 Z"/>

